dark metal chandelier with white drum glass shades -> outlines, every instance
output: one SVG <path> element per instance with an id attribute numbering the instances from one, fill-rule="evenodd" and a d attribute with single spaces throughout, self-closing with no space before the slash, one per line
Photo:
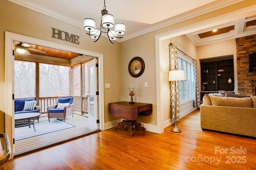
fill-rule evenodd
<path id="1" fill-rule="evenodd" d="M 102 18 L 100 23 L 100 29 L 95 27 L 95 20 L 92 18 L 84 19 L 84 30 L 89 32 L 87 33 L 92 39 L 94 39 L 94 43 L 100 39 L 101 33 L 107 33 L 108 40 L 113 44 L 113 41 L 116 39 L 121 39 L 121 35 L 125 34 L 125 25 L 123 23 L 116 23 L 114 25 L 114 16 L 108 14 L 106 10 L 105 0 L 104 0 L 104 8 L 101 11 Z M 115 29 L 111 29 L 111 28 Z"/>

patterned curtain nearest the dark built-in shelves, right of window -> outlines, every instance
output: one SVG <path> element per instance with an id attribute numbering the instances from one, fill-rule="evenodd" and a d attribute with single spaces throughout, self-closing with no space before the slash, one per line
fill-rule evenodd
<path id="1" fill-rule="evenodd" d="M 200 107 L 200 94 L 199 94 L 199 87 L 198 87 L 198 72 L 197 72 L 197 61 L 193 60 L 193 74 L 194 74 L 194 106 L 199 108 Z"/>

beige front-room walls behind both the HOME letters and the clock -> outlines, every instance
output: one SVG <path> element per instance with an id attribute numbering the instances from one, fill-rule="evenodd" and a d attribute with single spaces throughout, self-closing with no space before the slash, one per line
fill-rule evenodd
<path id="1" fill-rule="evenodd" d="M 0 132 L 4 132 L 4 121 L 3 112 L 5 110 L 5 98 L 4 94 L 4 32 L 10 31 L 13 33 L 18 33 L 21 35 L 26 35 L 29 37 L 35 37 L 37 39 L 43 39 L 46 41 L 51 41 L 58 44 L 68 45 L 71 47 L 76 47 L 79 49 L 85 49 L 88 51 L 93 51 L 96 53 L 101 53 L 104 55 L 104 83 L 110 83 L 111 88 L 104 89 L 104 115 L 105 123 L 115 120 L 114 117 L 110 116 L 108 113 L 108 103 L 117 102 L 120 100 L 129 101 L 130 96 L 128 92 L 128 87 L 132 82 L 135 87 L 135 102 L 144 102 L 153 104 L 152 115 L 138 117 L 138 121 L 142 123 L 148 123 L 156 125 L 156 115 L 162 113 L 156 113 L 156 46 L 155 46 L 155 36 L 166 33 L 172 30 L 179 30 L 187 25 L 192 25 L 194 23 L 199 23 L 201 21 L 210 20 L 227 14 L 229 12 L 246 8 L 255 4 L 255 0 L 246 0 L 238 4 L 234 4 L 230 7 L 226 7 L 202 16 L 198 16 L 168 27 L 146 33 L 139 37 L 129 39 L 122 43 L 115 43 L 111 45 L 108 40 L 102 37 L 96 44 L 86 36 L 86 32 L 81 27 L 75 27 L 68 23 L 58 21 L 54 18 L 45 16 L 38 12 L 34 12 L 22 6 L 18 6 L 9 2 L 7 0 L 0 1 Z M 82 21 L 81 21 L 82 22 Z M 61 29 L 63 31 L 73 33 L 80 36 L 80 44 L 73 44 L 66 41 L 61 41 L 51 37 L 52 29 Z M 200 28 L 201 29 L 201 28 Z M 184 33 L 183 33 L 184 34 Z M 176 35 L 178 36 L 178 35 Z M 175 37 L 176 37 L 175 36 Z M 172 36 L 174 37 L 174 36 Z M 167 41 L 168 42 L 168 41 Z M 174 42 L 174 41 L 172 41 Z M 178 47 L 188 53 L 191 57 L 194 56 L 194 47 L 187 46 L 184 44 L 183 40 L 177 39 Z M 29 43 L 29 42 L 28 42 Z M 188 49 L 190 51 L 186 51 Z M 128 63 L 133 57 L 142 57 L 145 62 L 145 71 L 139 78 L 133 78 L 128 73 Z M 162 69 L 162 68 L 161 68 Z M 162 74 L 162 73 L 160 73 Z M 165 74 L 165 73 L 164 73 Z M 164 76 L 164 75 L 160 75 Z M 166 79 L 167 80 L 167 79 Z M 144 87 L 144 82 L 148 82 L 148 87 Z M 166 82 L 166 81 L 164 81 Z M 166 117 L 167 118 L 167 117 Z"/>

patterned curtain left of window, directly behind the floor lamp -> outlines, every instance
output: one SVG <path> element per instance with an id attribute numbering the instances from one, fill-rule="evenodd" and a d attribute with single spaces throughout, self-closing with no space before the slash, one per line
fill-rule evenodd
<path id="1" fill-rule="evenodd" d="M 177 56 L 177 46 L 173 43 L 169 44 L 169 53 L 170 53 L 170 71 L 178 70 L 178 56 Z M 179 84 L 177 84 L 179 88 Z M 171 107 L 171 119 L 175 120 L 175 89 L 176 81 L 170 81 L 170 107 Z M 177 89 L 178 90 L 178 89 Z M 177 94 L 177 119 L 180 118 L 180 100 L 179 100 L 179 90 Z"/>

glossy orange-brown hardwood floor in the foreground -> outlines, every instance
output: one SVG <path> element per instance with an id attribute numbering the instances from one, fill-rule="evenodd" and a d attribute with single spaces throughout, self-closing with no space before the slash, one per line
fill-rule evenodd
<path id="1" fill-rule="evenodd" d="M 202 131 L 199 110 L 192 111 L 177 124 L 181 133 L 171 132 L 170 125 L 162 134 L 135 131 L 133 137 L 129 129 L 111 128 L 19 156 L 0 169 L 256 169 L 255 139 Z"/>

